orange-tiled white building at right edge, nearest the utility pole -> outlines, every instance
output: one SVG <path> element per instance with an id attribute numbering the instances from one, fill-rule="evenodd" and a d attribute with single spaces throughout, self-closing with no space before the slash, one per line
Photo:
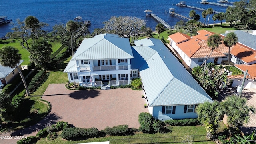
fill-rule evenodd
<path id="1" fill-rule="evenodd" d="M 236 68 L 247 72 L 246 80 L 244 82 L 244 88 L 256 88 L 256 64 L 253 65 L 245 65 L 245 64 L 235 64 Z M 227 76 L 228 80 L 233 80 L 232 87 L 242 85 L 244 75 L 235 75 L 235 76 Z"/>

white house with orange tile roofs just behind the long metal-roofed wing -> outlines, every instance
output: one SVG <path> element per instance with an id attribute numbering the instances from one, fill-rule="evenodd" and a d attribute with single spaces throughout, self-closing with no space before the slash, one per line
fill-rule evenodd
<path id="1" fill-rule="evenodd" d="M 191 38 L 190 36 L 180 32 L 168 36 L 170 46 L 176 50 L 190 68 L 201 65 L 204 62 L 206 55 L 209 56 L 212 52 L 212 50 L 207 46 L 207 39 L 214 33 L 207 30 L 200 30 L 197 33 L 198 35 Z M 221 64 L 222 61 L 228 60 L 227 55 L 228 48 L 222 43 L 213 51 L 210 58 L 208 58 L 207 63 L 212 62 L 215 64 Z"/>

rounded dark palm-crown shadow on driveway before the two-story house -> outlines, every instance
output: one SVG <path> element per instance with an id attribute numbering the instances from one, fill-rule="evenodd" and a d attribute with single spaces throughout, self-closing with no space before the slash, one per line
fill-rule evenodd
<path id="1" fill-rule="evenodd" d="M 77 100 L 85 100 L 87 98 L 95 98 L 96 96 L 100 95 L 99 90 L 76 90 L 69 94 L 71 98 L 77 99 Z"/>

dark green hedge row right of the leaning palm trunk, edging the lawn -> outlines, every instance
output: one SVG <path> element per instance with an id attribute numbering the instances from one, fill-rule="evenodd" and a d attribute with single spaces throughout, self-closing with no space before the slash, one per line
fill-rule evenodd
<path id="1" fill-rule="evenodd" d="M 47 80 L 49 74 L 44 69 L 40 70 L 30 81 L 28 85 L 29 92 L 35 92 Z"/>

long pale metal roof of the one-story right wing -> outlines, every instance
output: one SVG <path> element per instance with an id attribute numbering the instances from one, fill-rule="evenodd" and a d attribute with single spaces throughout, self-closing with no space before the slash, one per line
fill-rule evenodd
<path id="1" fill-rule="evenodd" d="M 142 41 L 143 46 L 140 46 Z M 160 40 L 149 38 L 134 43 L 136 46 L 132 47 L 134 59 L 131 60 L 131 66 L 132 69 L 138 66 L 149 106 L 212 102 L 210 96 Z"/>

